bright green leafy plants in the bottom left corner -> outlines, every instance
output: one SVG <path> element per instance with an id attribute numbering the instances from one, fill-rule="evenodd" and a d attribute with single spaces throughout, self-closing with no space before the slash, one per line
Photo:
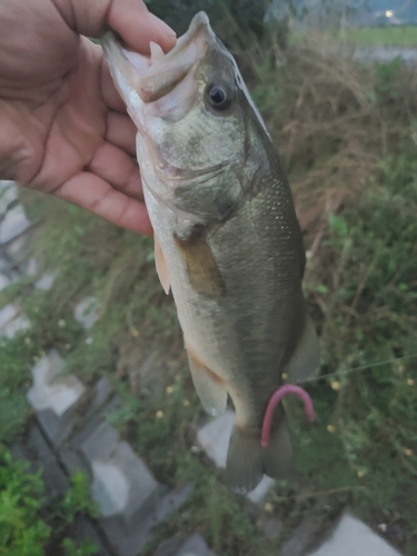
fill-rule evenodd
<path id="1" fill-rule="evenodd" d="M 49 545 L 57 554 L 57 543 L 66 556 L 96 554 L 97 547 L 90 543 L 76 546 L 64 538 L 79 512 L 96 513 L 86 480 L 83 475 L 76 475 L 63 500 L 47 500 L 39 474 L 29 473 L 27 463 L 14 461 L 0 445 L 0 555 L 44 556 Z"/>

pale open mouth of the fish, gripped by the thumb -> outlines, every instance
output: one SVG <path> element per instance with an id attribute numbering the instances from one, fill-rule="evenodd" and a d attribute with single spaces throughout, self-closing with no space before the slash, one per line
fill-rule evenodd
<path id="1" fill-rule="evenodd" d="M 125 48 L 117 34 L 110 30 L 101 38 L 119 88 L 123 88 L 125 83 L 147 103 L 157 101 L 176 88 L 215 41 L 216 36 L 203 11 L 195 16 L 188 31 L 168 53 L 163 53 L 161 47 L 155 42 L 150 42 L 150 56 L 133 52 Z M 126 87 L 123 89 L 126 93 Z"/>

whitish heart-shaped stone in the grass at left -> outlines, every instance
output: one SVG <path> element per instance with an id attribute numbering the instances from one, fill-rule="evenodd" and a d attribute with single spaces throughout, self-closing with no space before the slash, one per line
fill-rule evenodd
<path id="1" fill-rule="evenodd" d="M 33 386 L 27 397 L 33 409 L 51 409 L 62 416 L 82 396 L 86 388 L 73 375 L 58 376 L 63 360 L 52 350 L 32 368 Z"/>

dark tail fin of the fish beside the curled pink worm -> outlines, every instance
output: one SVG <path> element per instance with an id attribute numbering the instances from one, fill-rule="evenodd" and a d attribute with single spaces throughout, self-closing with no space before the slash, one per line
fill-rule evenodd
<path id="1" fill-rule="evenodd" d="M 224 475 L 227 485 L 251 490 L 264 474 L 279 480 L 295 475 L 286 418 L 271 433 L 267 448 L 260 445 L 260 435 L 254 437 L 245 433 L 245 429 L 238 427 L 232 431 Z"/>

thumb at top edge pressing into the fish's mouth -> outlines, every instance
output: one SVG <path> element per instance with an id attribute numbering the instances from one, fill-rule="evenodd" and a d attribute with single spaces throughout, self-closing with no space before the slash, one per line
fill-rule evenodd
<path id="1" fill-rule="evenodd" d="M 142 0 L 53 0 L 67 23 L 81 34 L 99 38 L 111 27 L 133 49 L 149 53 L 149 41 L 167 52 L 176 34 L 163 21 L 149 13 Z"/>

